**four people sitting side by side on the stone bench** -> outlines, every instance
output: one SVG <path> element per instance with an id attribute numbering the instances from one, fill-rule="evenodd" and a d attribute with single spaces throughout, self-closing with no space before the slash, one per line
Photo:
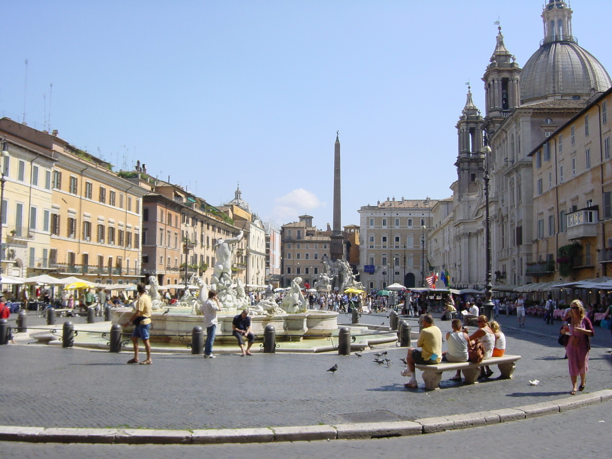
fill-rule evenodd
<path id="1" fill-rule="evenodd" d="M 409 376 L 410 380 L 404 384 L 405 387 L 418 387 L 414 365 L 436 365 L 442 360 L 444 362 L 467 362 L 469 351 L 477 342 L 482 343 L 485 348 L 485 360 L 490 357 L 501 357 L 506 351 L 506 336 L 501 331 L 496 321 L 488 322 L 487 316 L 480 315 L 477 318 L 478 329 L 469 334 L 468 327 L 463 327 L 459 319 L 453 319 L 452 332 L 447 332 L 446 343 L 448 350 L 442 352 L 442 332 L 433 324 L 430 314 L 422 316 L 423 329 L 419 334 L 417 346 L 421 349 L 408 349 L 406 363 L 408 368 L 402 371 L 403 376 Z M 490 378 L 493 370 L 488 365 L 480 367 L 478 379 Z M 451 381 L 461 381 L 461 370 L 457 370 Z"/>

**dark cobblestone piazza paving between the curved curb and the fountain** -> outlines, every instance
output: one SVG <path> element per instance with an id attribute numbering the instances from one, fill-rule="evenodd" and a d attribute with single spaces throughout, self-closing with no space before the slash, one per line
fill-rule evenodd
<path id="1" fill-rule="evenodd" d="M 380 324 L 384 315 L 364 315 Z M 567 397 L 571 389 L 559 326 L 532 319 L 524 329 L 516 318 L 500 318 L 508 352 L 520 354 L 515 378 L 442 389 L 406 390 L 400 357 L 394 364 L 372 362 L 375 349 L 355 355 L 256 354 L 203 359 L 189 354 L 156 354 L 153 365 L 125 365 L 130 353 L 62 349 L 47 345 L 0 348 L 0 425 L 37 427 L 243 428 L 412 420 L 528 405 Z M 448 322 L 436 321 L 442 330 Z M 597 329 L 587 387 L 612 388 L 610 334 Z M 236 348 L 237 350 L 237 348 Z M 258 348 L 259 350 L 259 348 Z M 335 374 L 327 368 L 338 364 Z M 497 368 L 492 368 L 497 370 Z M 497 371 L 496 371 L 497 373 Z M 494 375 L 495 376 L 495 375 Z M 529 380 L 539 379 L 539 386 Z M 422 386 L 422 381 L 419 383 Z"/>

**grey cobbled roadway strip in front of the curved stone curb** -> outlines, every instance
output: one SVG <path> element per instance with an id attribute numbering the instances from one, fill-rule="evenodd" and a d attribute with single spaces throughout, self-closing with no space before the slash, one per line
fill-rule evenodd
<path id="1" fill-rule="evenodd" d="M 608 459 L 611 405 L 608 401 L 507 424 L 377 440 L 167 446 L 0 442 L 0 458 Z M 572 438 L 569 430 L 576 431 Z"/>

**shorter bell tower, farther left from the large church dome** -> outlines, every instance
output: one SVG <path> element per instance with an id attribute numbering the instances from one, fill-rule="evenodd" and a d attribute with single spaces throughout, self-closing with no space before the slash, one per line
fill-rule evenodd
<path id="1" fill-rule="evenodd" d="M 471 88 L 468 86 L 468 95 L 465 107 L 457 122 L 458 150 L 457 155 L 457 194 L 461 201 L 466 193 L 474 194 L 480 185 L 477 180 L 482 179 L 485 155 L 482 154 L 482 138 L 485 121 L 480 110 L 472 102 Z"/>

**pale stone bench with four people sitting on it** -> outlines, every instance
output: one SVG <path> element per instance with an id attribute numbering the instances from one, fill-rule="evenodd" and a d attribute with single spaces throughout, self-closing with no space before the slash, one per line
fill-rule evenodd
<path id="1" fill-rule="evenodd" d="M 490 359 L 482 360 L 480 364 L 472 364 L 472 362 L 440 362 L 437 365 L 414 365 L 419 370 L 423 371 L 423 382 L 425 383 L 425 389 L 434 390 L 438 389 L 440 381 L 442 380 L 442 373 L 444 371 L 456 371 L 461 370 L 465 382 L 468 384 L 476 383 L 478 376 L 480 375 L 480 367 L 483 365 L 497 365 L 499 372 L 501 373 L 502 379 L 511 379 L 515 363 L 521 356 L 510 356 L 506 354 L 501 357 L 491 357 Z"/>

